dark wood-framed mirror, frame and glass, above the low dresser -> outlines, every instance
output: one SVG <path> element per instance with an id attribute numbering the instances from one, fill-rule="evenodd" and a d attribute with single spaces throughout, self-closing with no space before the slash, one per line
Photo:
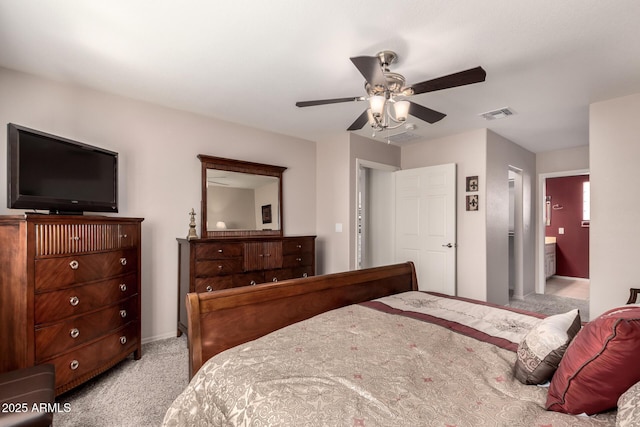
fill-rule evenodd
<path id="1" fill-rule="evenodd" d="M 199 154 L 202 238 L 279 236 L 286 167 Z"/>

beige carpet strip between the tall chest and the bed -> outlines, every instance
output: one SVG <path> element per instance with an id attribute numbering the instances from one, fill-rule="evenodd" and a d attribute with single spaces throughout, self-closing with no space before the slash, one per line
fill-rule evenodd
<path id="1" fill-rule="evenodd" d="M 159 426 L 167 408 L 188 383 L 186 336 L 142 346 L 132 357 L 82 386 L 58 397 L 69 403 L 57 413 L 55 427 Z"/>

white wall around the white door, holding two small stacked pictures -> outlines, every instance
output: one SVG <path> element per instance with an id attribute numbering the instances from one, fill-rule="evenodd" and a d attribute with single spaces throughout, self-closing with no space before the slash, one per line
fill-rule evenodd
<path id="1" fill-rule="evenodd" d="M 486 301 L 486 137 L 478 129 L 402 147 L 402 169 L 455 163 L 457 172 L 457 294 Z M 465 178 L 477 175 L 479 210 L 465 210 Z M 506 180 L 505 180 L 506 182 Z"/>

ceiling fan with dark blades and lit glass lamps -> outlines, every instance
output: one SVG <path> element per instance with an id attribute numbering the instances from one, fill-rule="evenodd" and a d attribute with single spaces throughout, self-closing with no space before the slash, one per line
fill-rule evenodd
<path id="1" fill-rule="evenodd" d="M 405 123 L 408 115 L 428 123 L 435 123 L 442 120 L 446 114 L 408 101 L 407 98 L 421 93 L 483 82 L 487 75 L 482 67 L 476 67 L 406 86 L 404 76 L 389 70 L 389 64 L 396 62 L 397 58 L 396 53 L 389 50 L 379 52 L 376 56 L 351 58 L 353 65 L 365 78 L 366 96 L 300 101 L 296 102 L 296 106 L 311 107 L 341 102 L 369 101 L 369 108 L 349 126 L 347 129 L 349 131 L 362 129 L 367 122 L 374 131 L 395 129 Z"/>

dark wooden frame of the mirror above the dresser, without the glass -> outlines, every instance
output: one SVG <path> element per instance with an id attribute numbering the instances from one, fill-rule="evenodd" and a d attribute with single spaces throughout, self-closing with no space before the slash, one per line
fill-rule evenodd
<path id="1" fill-rule="evenodd" d="M 283 166 L 265 165 L 262 163 L 245 162 L 242 160 L 225 159 L 222 157 L 207 156 L 198 154 L 202 168 L 202 198 L 200 206 L 201 234 L 202 238 L 207 237 L 247 237 L 247 236 L 283 236 L 283 205 L 282 205 L 282 174 L 287 169 Z M 207 230 L 207 170 L 217 169 L 232 172 L 241 172 L 254 175 L 273 176 L 278 178 L 278 230 Z"/>

